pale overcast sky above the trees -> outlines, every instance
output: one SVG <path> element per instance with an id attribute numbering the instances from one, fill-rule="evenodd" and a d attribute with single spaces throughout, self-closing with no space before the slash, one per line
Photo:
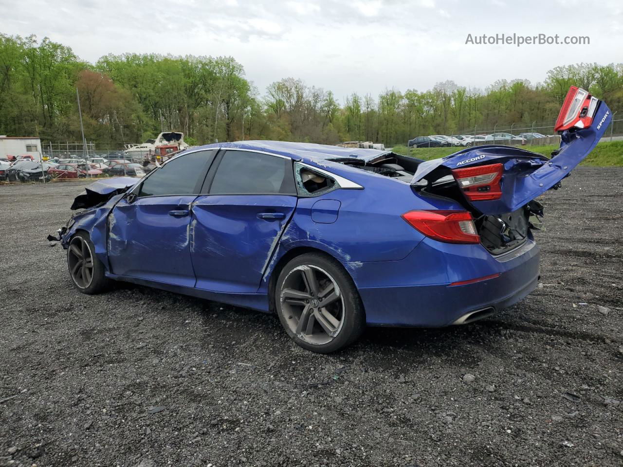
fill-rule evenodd
<path id="1" fill-rule="evenodd" d="M 5 34 L 36 34 L 80 58 L 231 55 L 260 95 L 280 78 L 374 97 L 454 80 L 542 82 L 578 62 L 623 62 L 623 2 L 604 0 L 0 0 Z M 468 34 L 587 35 L 590 45 L 466 45 Z"/>

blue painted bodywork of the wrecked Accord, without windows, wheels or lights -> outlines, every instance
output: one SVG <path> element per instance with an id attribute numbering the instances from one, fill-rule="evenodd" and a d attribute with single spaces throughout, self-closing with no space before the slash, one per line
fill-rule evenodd
<path id="1" fill-rule="evenodd" d="M 609 123 L 604 103 L 595 121 L 602 119 L 599 130 L 591 127 L 563 134 L 561 151 L 551 161 L 516 148 L 466 149 L 422 163 L 414 180 L 440 166 L 454 169 L 502 162 L 506 170 L 503 184 L 512 186 L 513 192 L 505 192 L 499 202 L 473 204 L 481 212 L 509 212 L 517 203 L 527 202 L 556 184 L 586 157 Z M 345 177 L 363 189 L 337 189 L 298 199 L 189 196 L 163 200 L 161 206 L 153 208 L 161 210 L 158 215 L 150 211 L 152 208 L 143 209 L 140 200 L 134 202 L 135 214 L 124 213 L 127 203 L 119 194 L 95 209 L 75 215 L 62 237 L 64 247 L 78 229 L 85 230 L 110 278 L 261 311 L 269 311 L 270 279 L 280 260 L 293 248 L 313 248 L 336 258 L 346 268 L 363 300 L 366 321 L 372 326 L 445 326 L 469 311 L 515 303 L 536 286 L 539 248 L 531 235 L 520 248 L 499 257 L 480 244 L 436 242 L 413 229 L 401 214 L 413 209 L 463 210 L 460 202 L 430 197 L 404 182 L 329 160 L 374 161 L 388 151 L 273 141 L 205 146 L 213 147 L 280 154 Z M 458 165 L 475 158 L 472 163 Z M 113 187 L 127 181 L 109 183 Z M 184 216 L 183 222 L 164 214 L 171 207 L 184 206 L 191 213 Z M 283 214 L 283 219 L 257 219 L 261 214 L 258 210 Z M 144 229 L 146 238 L 133 236 L 136 224 Z M 163 236 L 162 229 L 173 230 L 170 236 Z M 164 245 L 167 242 L 170 244 Z M 168 247 L 174 258 L 151 256 L 154 248 L 163 247 Z M 141 248 L 145 248 L 144 254 Z M 140 260 L 143 263 L 138 263 Z M 492 278 L 452 285 L 485 276 Z M 181 277 L 183 281 L 176 280 Z"/>

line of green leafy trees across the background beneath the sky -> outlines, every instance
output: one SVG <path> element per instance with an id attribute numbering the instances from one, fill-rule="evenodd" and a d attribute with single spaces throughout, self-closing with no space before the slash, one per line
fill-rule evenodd
<path id="1" fill-rule="evenodd" d="M 391 70 L 390 70 L 391 71 Z M 183 131 L 191 144 L 239 139 L 405 143 L 427 134 L 530 127 L 553 121 L 570 85 L 623 108 L 623 64 L 549 70 L 543 83 L 498 80 L 484 90 L 453 81 L 432 90 L 336 97 L 283 78 L 264 92 L 232 57 L 105 55 L 95 64 L 45 38 L 0 34 L 0 134 L 121 147 Z"/>

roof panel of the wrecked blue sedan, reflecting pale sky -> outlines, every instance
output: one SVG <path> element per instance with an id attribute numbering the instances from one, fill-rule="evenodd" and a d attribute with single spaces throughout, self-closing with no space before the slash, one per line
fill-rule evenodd
<path id="1" fill-rule="evenodd" d="M 379 149 L 341 148 L 329 144 L 314 143 L 291 143 L 289 141 L 234 141 L 232 143 L 214 143 L 201 146 L 201 148 L 235 148 L 254 149 L 255 151 L 267 151 L 281 154 L 295 160 L 300 159 L 330 159 L 330 158 L 358 158 L 364 161 L 377 158 L 381 154 L 391 151 Z"/>

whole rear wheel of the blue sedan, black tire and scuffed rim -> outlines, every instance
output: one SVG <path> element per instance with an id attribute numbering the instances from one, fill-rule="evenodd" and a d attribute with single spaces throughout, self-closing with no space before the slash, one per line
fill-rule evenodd
<path id="1" fill-rule="evenodd" d="M 277 314 L 298 346 L 322 354 L 363 333 L 363 304 L 352 278 L 335 259 L 305 253 L 283 267 L 275 286 Z"/>

